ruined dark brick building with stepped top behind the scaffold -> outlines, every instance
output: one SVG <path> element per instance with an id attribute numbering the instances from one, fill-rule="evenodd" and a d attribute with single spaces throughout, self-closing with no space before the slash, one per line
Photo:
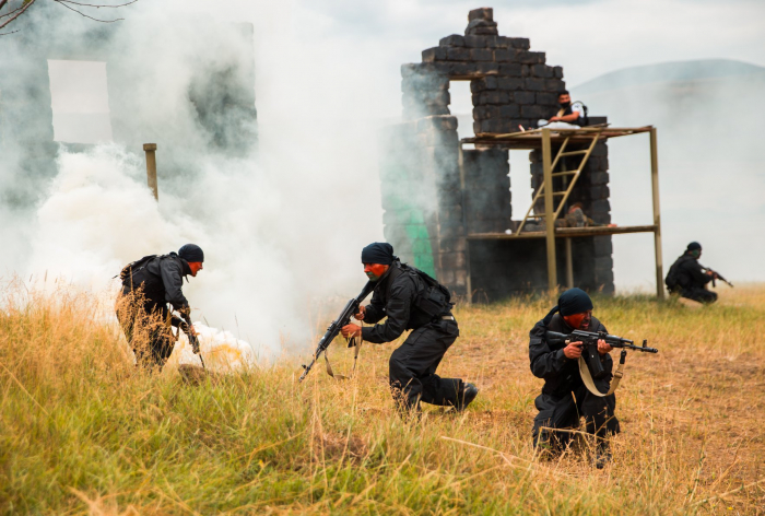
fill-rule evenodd
<path id="1" fill-rule="evenodd" d="M 482 237 L 518 226 L 511 220 L 508 150 L 463 149 L 449 112 L 449 84 L 470 81 L 473 129 L 480 134 L 534 128 L 557 110 L 565 82 L 563 68 L 548 64 L 529 39 L 498 35 L 491 8 L 471 11 L 468 21 L 464 35 L 444 37 L 423 50 L 422 62 L 401 67 L 403 121 L 384 131 L 380 164 L 385 236 L 402 259 L 455 292 L 497 300 L 546 289 L 545 242 Z M 529 155 L 534 191 L 541 184 L 540 156 L 538 150 Z M 608 148 L 601 141 L 568 203 L 581 202 L 596 222 L 609 223 L 608 184 Z M 576 284 L 613 292 L 611 236 L 570 241 Z M 555 245 L 563 254 L 563 239 Z M 560 268 L 562 277 L 563 263 Z"/>

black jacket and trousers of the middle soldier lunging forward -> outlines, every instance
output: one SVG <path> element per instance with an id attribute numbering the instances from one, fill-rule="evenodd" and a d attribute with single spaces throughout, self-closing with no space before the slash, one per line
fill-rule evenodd
<path id="1" fill-rule="evenodd" d="M 381 344 L 413 330 L 390 356 L 390 386 L 399 407 L 419 408 L 419 402 L 424 401 L 459 408 L 464 394 L 462 380 L 435 374 L 446 350 L 459 336 L 459 328 L 449 304 L 436 316 L 428 316 L 419 307 L 420 294 L 425 291 L 425 282 L 414 270 L 393 261 L 378 280 L 364 316 L 364 321 L 372 324 L 386 316 L 388 319 L 382 325 L 364 327 L 362 338 Z"/>

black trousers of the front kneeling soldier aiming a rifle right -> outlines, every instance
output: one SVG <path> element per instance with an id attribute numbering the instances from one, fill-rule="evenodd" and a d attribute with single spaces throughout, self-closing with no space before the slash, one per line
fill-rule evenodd
<path id="1" fill-rule="evenodd" d="M 605 383 L 598 385 L 602 390 L 608 388 Z M 576 398 L 576 399 L 575 399 Z M 555 432 L 554 429 L 577 430 L 579 419 L 585 417 L 585 431 L 604 438 L 609 434 L 620 432 L 619 420 L 614 415 L 616 397 L 614 395 L 600 398 L 595 396 L 581 382 L 570 392 L 554 396 L 542 392 L 534 400 L 539 413 L 534 418 L 531 431 L 534 446 L 560 452 L 568 445 L 575 434 Z"/>

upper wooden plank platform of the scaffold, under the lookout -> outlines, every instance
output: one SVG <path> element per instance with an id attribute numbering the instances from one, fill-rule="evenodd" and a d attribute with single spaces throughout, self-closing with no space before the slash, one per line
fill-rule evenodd
<path id="1" fill-rule="evenodd" d="M 582 127 L 579 129 L 551 129 L 550 139 L 552 143 L 563 143 L 569 138 L 568 143 L 590 143 L 592 134 L 598 134 L 598 139 L 626 137 L 650 132 L 652 126 L 645 127 Z M 463 138 L 461 143 L 473 143 L 479 145 L 495 145 L 503 149 L 542 149 L 542 129 L 533 129 L 526 132 L 509 132 L 505 134 L 494 132 L 480 132 L 473 138 Z"/>

